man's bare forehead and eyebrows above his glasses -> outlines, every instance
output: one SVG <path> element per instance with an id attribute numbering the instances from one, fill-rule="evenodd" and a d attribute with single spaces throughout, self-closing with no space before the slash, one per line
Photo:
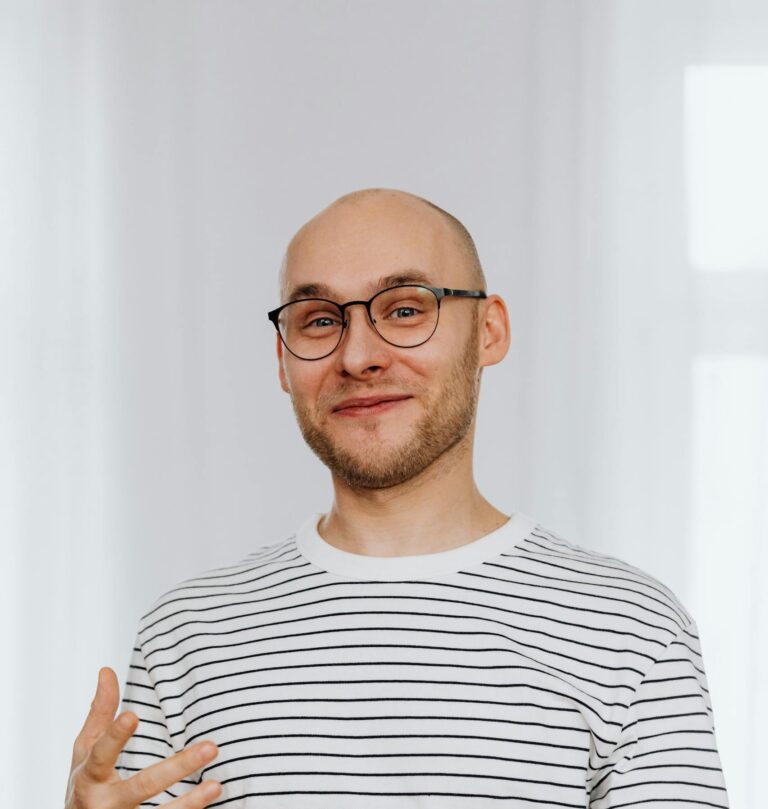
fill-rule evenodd
<path id="1" fill-rule="evenodd" d="M 396 284 L 461 286 L 463 266 L 437 212 L 399 200 L 322 211 L 286 251 L 281 298 L 368 298 Z"/>

